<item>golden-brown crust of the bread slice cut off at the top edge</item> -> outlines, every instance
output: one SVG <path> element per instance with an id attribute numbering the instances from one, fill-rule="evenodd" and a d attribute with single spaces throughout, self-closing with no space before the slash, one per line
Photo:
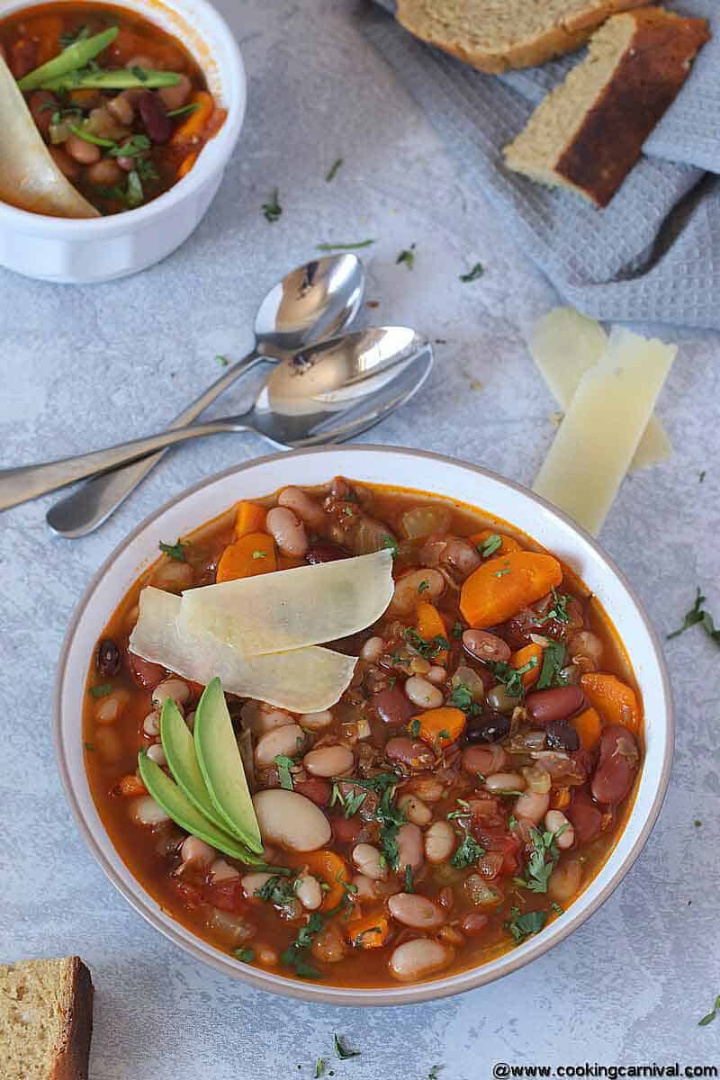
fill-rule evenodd
<path id="1" fill-rule="evenodd" d="M 642 8 L 649 0 L 604 0 L 595 4 L 588 0 L 586 9 L 569 13 L 559 22 L 548 21 L 547 29 L 527 42 L 504 45 L 499 42 L 491 50 L 480 49 L 470 38 L 463 38 L 461 29 L 445 25 L 441 19 L 443 0 L 397 0 L 398 23 L 416 37 L 436 45 L 451 56 L 470 64 L 478 71 L 500 75 L 508 68 L 535 67 L 554 56 L 573 52 L 587 41 L 598 26 L 610 15 Z M 508 9 L 517 5 L 518 13 L 525 6 L 518 0 L 507 0 Z M 435 17 L 436 16 L 436 17 Z"/>

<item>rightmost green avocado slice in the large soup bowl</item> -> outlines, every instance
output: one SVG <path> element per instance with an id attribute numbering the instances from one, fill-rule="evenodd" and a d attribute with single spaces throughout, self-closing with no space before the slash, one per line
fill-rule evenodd
<path id="1" fill-rule="evenodd" d="M 213 806 L 250 851 L 262 851 L 230 713 L 219 678 L 210 679 L 195 710 L 195 753 Z"/>

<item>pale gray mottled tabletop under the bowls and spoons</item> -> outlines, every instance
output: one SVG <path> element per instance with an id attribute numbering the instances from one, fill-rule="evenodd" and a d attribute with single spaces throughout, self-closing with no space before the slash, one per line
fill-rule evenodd
<path id="1" fill-rule="evenodd" d="M 99 446 L 169 419 L 214 378 L 217 352 L 241 354 L 267 283 L 317 241 L 375 237 L 372 316 L 408 320 L 447 343 L 423 396 L 368 437 L 530 482 L 555 405 L 522 327 L 556 302 L 552 291 L 446 157 L 351 5 L 223 6 L 245 42 L 249 114 L 195 237 L 163 266 L 94 288 L 0 272 L 3 463 Z M 326 185 L 337 157 L 344 166 Z M 285 213 L 270 226 L 259 205 L 275 184 Z M 412 242 L 409 272 L 395 258 Z M 476 260 L 485 276 L 462 285 L 458 274 Z M 678 623 L 696 583 L 720 617 L 718 340 L 676 338 L 680 355 L 660 405 L 676 455 L 624 485 L 601 538 L 662 632 Z M 175 951 L 106 881 L 55 772 L 51 691 L 65 626 L 91 573 L 145 514 L 259 451 L 244 436 L 178 450 L 84 541 L 50 535 L 49 499 L 0 516 L 0 959 L 85 957 L 97 986 L 92 1080 L 308 1080 L 315 1058 L 331 1052 L 334 1030 L 363 1051 L 330 1066 L 339 1080 L 424 1080 L 436 1063 L 445 1065 L 439 1080 L 489 1077 L 499 1061 L 717 1065 L 720 1021 L 696 1025 L 720 993 L 719 653 L 697 627 L 667 650 L 677 756 L 646 851 L 589 923 L 490 987 L 366 1014 L 271 998 Z"/>

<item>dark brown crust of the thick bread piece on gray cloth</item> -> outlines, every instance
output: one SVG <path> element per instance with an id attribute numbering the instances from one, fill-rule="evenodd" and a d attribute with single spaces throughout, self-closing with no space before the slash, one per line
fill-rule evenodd
<path id="1" fill-rule="evenodd" d="M 636 11 L 635 33 L 600 99 L 557 161 L 558 176 L 607 206 L 642 144 L 673 104 L 697 51 L 709 40 L 702 18 L 662 9 Z"/>

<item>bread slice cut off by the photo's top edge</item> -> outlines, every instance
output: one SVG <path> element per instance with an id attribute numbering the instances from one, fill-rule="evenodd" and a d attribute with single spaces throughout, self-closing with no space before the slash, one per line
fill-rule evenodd
<path id="1" fill-rule="evenodd" d="M 397 0 L 397 19 L 423 41 L 499 75 L 534 67 L 587 41 L 609 15 L 650 0 Z"/>

